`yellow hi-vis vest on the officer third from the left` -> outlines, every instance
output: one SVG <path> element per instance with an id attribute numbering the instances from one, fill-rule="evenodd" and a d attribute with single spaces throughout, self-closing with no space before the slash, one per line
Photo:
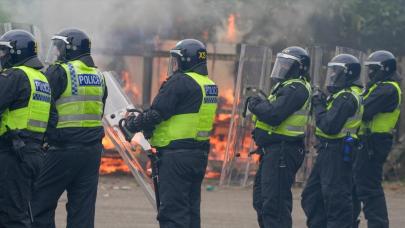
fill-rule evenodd
<path id="1" fill-rule="evenodd" d="M 150 142 L 154 147 L 164 147 L 180 139 L 206 141 L 212 132 L 218 102 L 218 87 L 208 76 L 186 73 L 201 88 L 202 103 L 198 113 L 174 115 L 156 126 Z"/>

